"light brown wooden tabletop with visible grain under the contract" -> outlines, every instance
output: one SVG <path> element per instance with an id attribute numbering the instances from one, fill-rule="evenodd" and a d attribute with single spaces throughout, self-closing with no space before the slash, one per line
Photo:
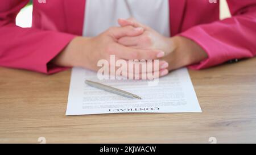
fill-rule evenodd
<path id="1" fill-rule="evenodd" d="M 189 73 L 203 113 L 65 116 L 71 70 L 0 68 L 0 143 L 256 143 L 256 58 Z"/>

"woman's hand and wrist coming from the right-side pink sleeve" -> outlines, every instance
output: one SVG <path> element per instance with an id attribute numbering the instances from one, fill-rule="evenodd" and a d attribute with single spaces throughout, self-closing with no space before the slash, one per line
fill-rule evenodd
<path id="1" fill-rule="evenodd" d="M 119 44 L 137 49 L 159 49 L 165 53 L 160 60 L 168 62 L 168 70 L 195 64 L 208 57 L 207 53 L 194 41 L 181 36 L 165 37 L 150 27 L 144 26 L 133 18 L 118 19 L 121 27 L 142 27 L 142 35 L 121 37 Z"/>

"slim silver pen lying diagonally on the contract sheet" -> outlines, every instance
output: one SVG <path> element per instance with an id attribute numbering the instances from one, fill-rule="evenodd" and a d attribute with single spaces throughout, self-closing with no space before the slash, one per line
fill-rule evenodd
<path id="1" fill-rule="evenodd" d="M 88 79 L 85 80 L 85 83 L 87 85 L 89 85 L 89 86 L 96 87 L 97 89 L 109 91 L 110 93 L 122 95 L 124 97 L 129 97 L 129 98 L 141 99 L 141 97 L 139 97 L 138 95 L 131 94 L 131 93 L 127 92 L 127 91 L 123 91 L 123 90 L 120 90 L 120 89 L 117 89 L 117 88 L 114 88 L 114 87 L 103 85 L 103 84 L 98 83 L 98 82 L 90 81 Z"/>

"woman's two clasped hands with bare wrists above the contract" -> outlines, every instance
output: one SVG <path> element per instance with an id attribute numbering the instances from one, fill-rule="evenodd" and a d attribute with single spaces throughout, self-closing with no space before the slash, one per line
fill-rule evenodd
<path id="1" fill-rule="evenodd" d="M 207 57 L 199 45 L 185 37 L 164 37 L 133 18 L 118 19 L 118 23 L 120 27 L 111 27 L 96 37 L 75 37 L 53 63 L 97 71 L 97 62 L 102 59 L 110 61 L 110 55 L 114 55 L 116 60 L 125 61 L 159 60 L 159 66 L 153 72 L 162 77 L 170 70 Z M 146 74 L 142 71 L 139 69 L 138 74 Z M 127 72 L 127 75 L 134 74 L 130 70 Z"/>

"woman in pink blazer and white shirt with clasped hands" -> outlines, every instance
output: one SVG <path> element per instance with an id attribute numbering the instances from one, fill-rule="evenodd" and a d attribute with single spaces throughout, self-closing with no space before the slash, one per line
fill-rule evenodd
<path id="1" fill-rule="evenodd" d="M 36 0 L 32 28 L 20 28 L 15 17 L 28 0 L 2 0 L 0 65 L 47 74 L 68 66 L 97 70 L 98 60 L 115 55 L 159 59 L 164 76 L 253 57 L 256 1 L 227 2 L 232 18 L 220 21 L 218 1 Z"/>

